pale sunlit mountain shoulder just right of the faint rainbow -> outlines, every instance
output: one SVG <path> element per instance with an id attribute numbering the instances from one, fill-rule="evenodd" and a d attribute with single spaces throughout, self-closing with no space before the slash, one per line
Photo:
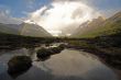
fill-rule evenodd
<path id="1" fill-rule="evenodd" d="M 50 37 L 52 36 L 47 31 L 37 24 L 22 23 L 20 34 L 25 36 L 35 36 L 35 37 Z"/>

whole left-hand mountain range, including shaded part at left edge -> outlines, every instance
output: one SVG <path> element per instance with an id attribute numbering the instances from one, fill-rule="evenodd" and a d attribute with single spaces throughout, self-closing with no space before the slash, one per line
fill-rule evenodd
<path id="1" fill-rule="evenodd" d="M 32 23 L 22 23 L 22 24 L 0 23 L 0 32 L 8 33 L 8 34 L 24 35 L 24 36 L 34 36 L 34 37 L 52 36 L 42 26 L 40 26 L 37 24 L 32 24 Z"/>

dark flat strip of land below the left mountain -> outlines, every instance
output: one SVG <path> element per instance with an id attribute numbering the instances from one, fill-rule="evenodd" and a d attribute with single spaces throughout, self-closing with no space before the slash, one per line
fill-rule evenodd
<path id="1" fill-rule="evenodd" d="M 56 41 L 55 41 L 56 39 Z M 41 44 L 51 44 L 59 42 L 54 37 L 31 37 L 22 35 L 13 35 L 0 33 L 0 49 L 18 49 L 41 46 Z"/>

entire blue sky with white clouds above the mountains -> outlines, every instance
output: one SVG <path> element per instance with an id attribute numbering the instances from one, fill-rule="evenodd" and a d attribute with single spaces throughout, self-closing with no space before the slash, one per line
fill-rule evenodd
<path id="1" fill-rule="evenodd" d="M 75 30 L 88 20 L 119 11 L 121 0 L 0 0 L 0 23 L 34 22 L 57 35 L 64 28 Z"/>

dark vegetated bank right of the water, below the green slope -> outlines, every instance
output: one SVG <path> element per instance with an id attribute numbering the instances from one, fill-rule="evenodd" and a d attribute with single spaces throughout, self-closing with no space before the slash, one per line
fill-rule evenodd
<path id="1" fill-rule="evenodd" d="M 109 66 L 121 69 L 121 33 L 68 42 L 70 48 L 84 49 L 103 59 Z"/>

